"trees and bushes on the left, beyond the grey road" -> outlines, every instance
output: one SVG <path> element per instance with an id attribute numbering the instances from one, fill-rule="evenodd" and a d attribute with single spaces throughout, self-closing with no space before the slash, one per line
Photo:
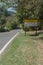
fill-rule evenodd
<path id="1" fill-rule="evenodd" d="M 19 22 L 16 13 L 7 11 L 7 8 L 10 6 L 8 6 L 7 4 L 2 4 L 2 6 L 0 6 L 0 32 L 10 31 L 12 29 L 18 28 Z"/>

